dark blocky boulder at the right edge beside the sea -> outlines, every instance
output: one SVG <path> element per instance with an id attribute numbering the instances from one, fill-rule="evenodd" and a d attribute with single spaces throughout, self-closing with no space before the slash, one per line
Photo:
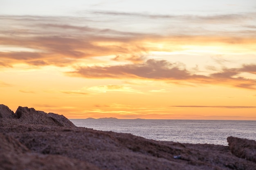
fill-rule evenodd
<path id="1" fill-rule="evenodd" d="M 234 155 L 256 163 L 256 141 L 237 137 L 228 137 L 227 141 Z"/>

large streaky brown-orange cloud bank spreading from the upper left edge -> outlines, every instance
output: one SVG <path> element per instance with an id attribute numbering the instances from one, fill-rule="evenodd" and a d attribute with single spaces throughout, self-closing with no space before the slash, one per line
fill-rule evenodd
<path id="1" fill-rule="evenodd" d="M 68 66 L 82 58 L 106 55 L 117 56 L 115 60 L 137 62 L 142 59 L 141 53 L 147 52 L 142 46 L 133 46 L 131 43 L 137 41 L 142 34 L 77 26 L 78 18 L 66 21 L 71 24 L 58 23 L 66 20 L 58 17 L 36 19 L 33 16 L 2 16 L 1 18 L 11 22 L 13 29 L 10 27 L 4 29 L 4 26 L 0 28 L 0 44 L 12 46 L 13 49 L 16 47 L 30 49 L 30 51 L 0 52 L 1 59 L 7 60 L 0 62 L 2 66 L 11 66 L 15 63 Z M 20 20 L 24 22 L 20 24 L 18 22 Z M 49 23 L 45 24 L 47 22 Z M 15 29 L 15 26 L 20 29 Z"/>

